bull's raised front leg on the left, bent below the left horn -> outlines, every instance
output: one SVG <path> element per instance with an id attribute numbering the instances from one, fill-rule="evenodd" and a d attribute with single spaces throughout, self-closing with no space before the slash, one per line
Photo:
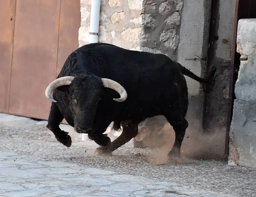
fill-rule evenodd
<path id="1" fill-rule="evenodd" d="M 52 131 L 59 142 L 67 147 L 70 147 L 72 143 L 71 137 L 68 135 L 68 132 L 62 131 L 59 127 L 63 119 L 64 117 L 61 114 L 58 106 L 55 103 L 52 103 L 47 128 Z"/>

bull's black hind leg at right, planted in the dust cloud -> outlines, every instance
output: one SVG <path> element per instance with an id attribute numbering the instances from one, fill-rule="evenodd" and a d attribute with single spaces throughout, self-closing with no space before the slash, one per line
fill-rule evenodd
<path id="1" fill-rule="evenodd" d="M 175 143 L 168 156 L 180 157 L 180 147 L 185 136 L 186 128 L 189 126 L 189 124 L 185 117 L 183 117 L 181 114 L 178 115 L 178 113 L 173 113 L 173 115 L 165 117 L 175 131 Z"/>

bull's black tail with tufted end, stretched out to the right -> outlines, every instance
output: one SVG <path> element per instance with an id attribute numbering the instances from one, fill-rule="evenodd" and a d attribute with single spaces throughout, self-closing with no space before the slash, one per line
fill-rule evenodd
<path id="1" fill-rule="evenodd" d="M 216 72 L 215 66 L 212 66 L 209 69 L 209 71 L 204 74 L 204 78 L 201 78 L 201 77 L 196 76 L 191 71 L 189 71 L 189 69 L 186 69 L 184 66 L 181 66 L 179 63 L 177 63 L 177 62 L 175 62 L 175 63 L 179 66 L 182 74 L 202 83 L 202 88 L 203 88 L 204 92 L 209 94 L 212 91 L 213 86 L 215 85 L 215 77 L 214 77 L 214 74 Z"/>

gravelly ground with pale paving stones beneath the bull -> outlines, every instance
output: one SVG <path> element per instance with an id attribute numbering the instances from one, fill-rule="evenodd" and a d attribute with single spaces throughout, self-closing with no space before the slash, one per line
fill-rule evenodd
<path id="1" fill-rule="evenodd" d="M 148 162 L 157 150 L 129 146 L 97 157 L 97 146 L 69 126 L 61 125 L 73 139 L 67 148 L 45 125 L 0 114 L 0 196 L 256 196 L 256 169 L 218 161 L 159 166 Z"/>

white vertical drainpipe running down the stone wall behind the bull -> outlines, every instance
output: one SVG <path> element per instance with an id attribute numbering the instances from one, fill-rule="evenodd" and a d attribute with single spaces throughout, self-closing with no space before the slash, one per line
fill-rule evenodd
<path id="1" fill-rule="evenodd" d="M 91 0 L 89 44 L 98 43 L 100 0 Z M 82 141 L 90 141 L 88 134 L 82 134 Z"/>

